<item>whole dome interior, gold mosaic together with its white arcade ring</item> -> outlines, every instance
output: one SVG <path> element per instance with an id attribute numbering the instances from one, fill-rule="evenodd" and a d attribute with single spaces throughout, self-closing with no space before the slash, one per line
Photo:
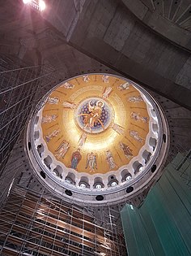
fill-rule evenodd
<path id="1" fill-rule="evenodd" d="M 161 115 L 133 81 L 87 74 L 63 81 L 38 106 L 31 124 L 41 171 L 89 193 L 138 181 L 161 148 Z"/>

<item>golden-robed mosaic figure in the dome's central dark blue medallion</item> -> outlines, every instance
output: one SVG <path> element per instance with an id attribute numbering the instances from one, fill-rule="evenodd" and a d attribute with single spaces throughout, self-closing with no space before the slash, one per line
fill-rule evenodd
<path id="1" fill-rule="evenodd" d="M 100 122 L 102 128 L 104 129 L 104 124 L 100 120 L 103 106 L 104 106 L 104 102 L 102 101 L 96 102 L 96 106 L 91 106 L 91 102 L 88 103 L 87 108 L 90 113 L 80 114 L 84 116 L 84 119 L 83 119 L 84 128 L 91 129 L 92 127 L 94 127 L 95 123 Z"/>

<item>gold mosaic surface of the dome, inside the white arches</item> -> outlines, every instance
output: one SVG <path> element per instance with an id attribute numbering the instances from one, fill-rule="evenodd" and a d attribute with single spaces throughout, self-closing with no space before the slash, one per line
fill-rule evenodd
<path id="1" fill-rule="evenodd" d="M 90 74 L 58 85 L 40 111 L 40 132 L 55 164 L 105 174 L 138 157 L 150 132 L 146 97 L 121 77 Z"/>

